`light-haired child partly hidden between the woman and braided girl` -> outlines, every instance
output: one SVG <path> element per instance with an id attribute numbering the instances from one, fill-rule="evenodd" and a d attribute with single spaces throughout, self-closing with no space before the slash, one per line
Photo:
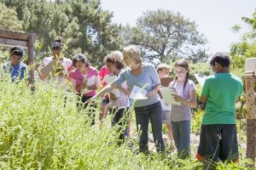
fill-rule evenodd
<path id="1" fill-rule="evenodd" d="M 156 71 L 158 73 L 159 78 L 164 78 L 164 77 L 168 77 L 169 73 L 171 71 L 171 67 L 169 65 L 166 64 L 160 64 L 157 66 Z M 171 125 L 171 121 L 170 121 L 170 113 L 171 113 L 171 105 L 166 105 L 165 101 L 163 99 L 160 99 L 163 111 L 164 111 L 164 115 L 163 115 L 163 123 L 166 123 L 166 128 L 167 128 L 167 136 L 169 141 L 171 142 L 173 140 L 173 136 L 172 136 L 172 125 Z"/>

